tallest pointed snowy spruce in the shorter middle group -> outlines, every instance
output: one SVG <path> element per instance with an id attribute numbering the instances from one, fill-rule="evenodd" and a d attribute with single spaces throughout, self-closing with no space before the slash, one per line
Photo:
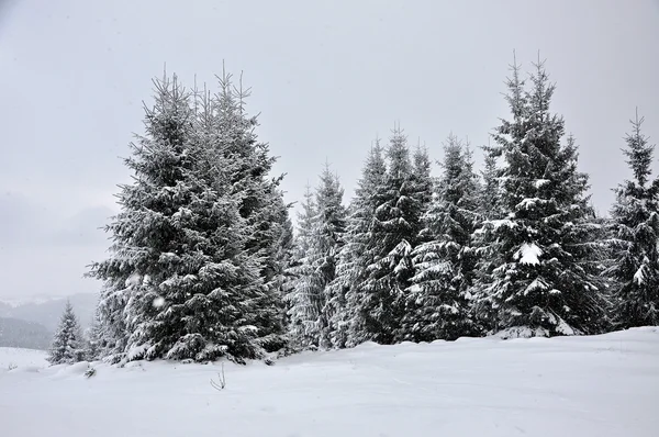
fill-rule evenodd
<path id="1" fill-rule="evenodd" d="M 380 344 L 392 344 L 404 337 L 401 320 L 405 311 L 405 290 L 413 276 L 411 254 L 425 208 L 417 198 L 407 139 L 398 127 L 390 138 L 387 155 L 389 166 L 372 198 L 376 209 L 367 243 L 370 264 L 357 310 L 364 321 L 364 339 Z"/>

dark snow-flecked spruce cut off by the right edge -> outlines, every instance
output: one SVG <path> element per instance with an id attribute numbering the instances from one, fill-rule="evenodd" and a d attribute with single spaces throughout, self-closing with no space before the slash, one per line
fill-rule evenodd
<path id="1" fill-rule="evenodd" d="M 659 179 L 650 180 L 655 146 L 632 121 L 624 154 L 633 172 L 615 189 L 611 211 L 615 317 L 622 327 L 659 325 Z"/>

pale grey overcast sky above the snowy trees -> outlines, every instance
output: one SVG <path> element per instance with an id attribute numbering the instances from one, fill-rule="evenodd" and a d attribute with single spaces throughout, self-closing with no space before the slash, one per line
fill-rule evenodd
<path id="1" fill-rule="evenodd" d="M 0 1 L 1 3 L 1 1 Z M 581 147 L 593 200 L 627 176 L 638 105 L 659 142 L 659 2 L 9 1 L 0 8 L 0 298 L 97 291 L 85 265 L 129 180 L 163 64 L 183 81 L 244 70 L 288 200 L 327 159 L 346 198 L 371 139 L 400 121 L 433 158 L 453 131 L 487 143 L 507 111 L 512 51 L 547 58 L 554 109 Z M 658 156 L 659 158 L 659 156 Z M 659 166 L 656 166 L 656 168 Z M 347 200 L 346 199 L 346 200 Z"/>

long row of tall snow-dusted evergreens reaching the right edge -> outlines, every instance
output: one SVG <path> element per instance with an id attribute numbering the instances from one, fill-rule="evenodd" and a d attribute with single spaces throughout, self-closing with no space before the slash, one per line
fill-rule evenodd
<path id="1" fill-rule="evenodd" d="M 544 63 L 511 66 L 510 113 L 474 168 L 450 135 L 439 177 L 400 126 L 368 150 L 346 204 L 326 166 L 289 218 L 275 158 L 232 76 L 219 91 L 154 80 L 110 256 L 93 358 L 242 362 L 364 341 L 589 335 L 659 324 L 659 180 L 636 115 L 633 177 L 610 216 L 590 202 L 578 145 L 552 112 Z"/>

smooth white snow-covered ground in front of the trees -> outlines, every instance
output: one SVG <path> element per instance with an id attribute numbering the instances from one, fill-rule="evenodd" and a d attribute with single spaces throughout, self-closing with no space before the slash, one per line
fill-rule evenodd
<path id="1" fill-rule="evenodd" d="M 18 368 L 9 371 L 9 363 Z M 0 349 L 0 435 L 659 435 L 659 328 L 304 354 L 268 367 L 86 363 Z M 38 371 L 37 371 L 38 370 Z"/>

